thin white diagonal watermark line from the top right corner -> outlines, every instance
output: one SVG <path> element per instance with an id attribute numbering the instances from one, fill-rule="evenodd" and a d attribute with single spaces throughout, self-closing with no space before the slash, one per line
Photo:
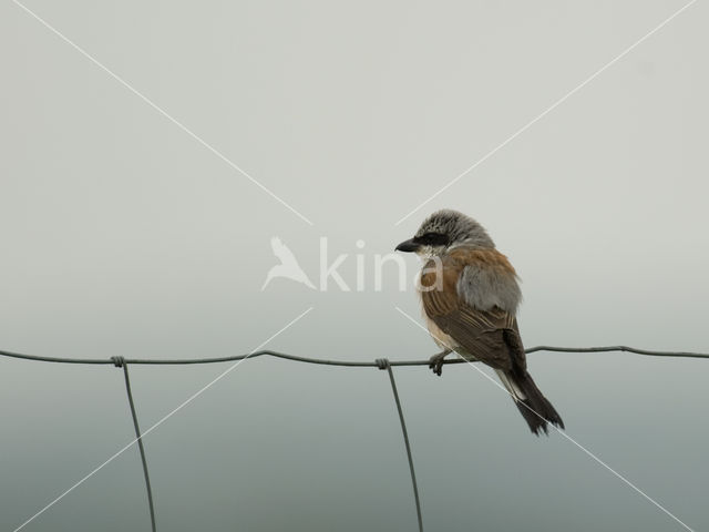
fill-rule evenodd
<path id="1" fill-rule="evenodd" d="M 651 35 L 654 35 L 655 33 L 657 33 L 659 30 L 661 30 L 665 25 L 667 25 L 672 19 L 675 19 L 675 17 L 679 16 L 682 11 L 685 11 L 686 9 L 688 9 L 692 3 L 695 3 L 697 0 L 691 0 L 690 2 L 686 3 L 685 6 L 682 6 L 680 9 L 678 9 L 677 11 L 675 11 L 672 14 L 670 14 L 667 19 L 665 19 L 661 23 L 659 23 L 658 25 L 656 25 L 655 28 L 653 28 L 649 32 L 647 32 L 645 35 L 643 35 L 640 39 L 638 39 L 637 41 L 635 41 L 633 44 L 630 44 L 628 48 L 626 48 L 623 52 L 620 52 L 618 55 L 616 55 L 614 59 L 612 59 L 610 61 L 608 61 L 606 64 L 604 64 L 602 68 L 599 68 L 597 71 L 595 71 L 593 74 L 590 74 L 588 78 L 586 78 L 584 81 L 582 81 L 578 85 L 576 85 L 574 89 L 572 89 L 569 92 L 567 92 L 564 96 L 562 96 L 559 100 L 557 100 L 554 104 L 549 105 L 548 108 L 546 108 L 546 110 L 544 110 L 541 114 L 538 114 L 535 119 L 533 119 L 532 121 L 527 122 L 525 125 L 523 125 L 522 127 L 520 127 L 515 133 L 513 133 L 511 136 L 508 136 L 505 141 L 503 141 L 502 143 L 497 144 L 495 147 L 493 147 L 490 152 L 487 152 L 482 158 L 479 158 L 475 163 L 473 163 L 472 165 L 470 165 L 467 168 L 465 168 L 463 172 L 461 172 L 460 174 L 458 174 L 458 176 L 455 176 L 453 180 L 451 180 L 450 182 L 448 182 L 443 187 L 441 187 L 438 192 L 435 192 L 433 195 L 431 195 L 428 200 L 425 200 L 424 202 L 421 202 L 413 211 L 411 211 L 409 214 L 407 214 L 405 216 L 403 216 L 402 218 L 400 218 L 395 224 L 399 225 L 401 224 L 403 221 L 405 221 L 407 218 L 409 218 L 412 214 L 417 213 L 421 207 L 423 207 L 424 205 L 427 205 L 428 203 L 432 202 L 435 197 L 438 197 L 439 195 L 441 195 L 443 192 L 445 192 L 448 188 L 450 188 L 451 186 L 453 186 L 455 183 L 458 183 L 460 180 L 462 180 L 463 177 L 465 177 L 467 174 L 470 174 L 473 170 L 475 170 L 477 166 L 480 166 L 482 163 L 484 163 L 485 161 L 487 161 L 490 157 L 492 157 L 495 153 L 497 153 L 500 150 L 502 150 L 503 147 L 505 147 L 507 144 L 510 144 L 512 141 L 514 141 L 517 136 L 520 136 L 522 133 L 524 133 L 525 131 L 527 131 L 530 127 L 532 127 L 534 124 L 536 124 L 540 120 L 542 120 L 544 116 L 546 116 L 548 113 L 551 113 L 552 111 L 554 111 L 556 108 L 558 108 L 562 103 L 564 103 L 566 100 L 568 100 L 571 96 L 573 96 L 574 94 L 576 94 L 578 91 L 580 91 L 584 86 L 586 86 L 588 83 L 590 83 L 593 80 L 595 80 L 598 75 L 600 75 L 604 71 L 606 71 L 607 69 L 609 69 L 610 66 L 613 66 L 616 62 L 618 62 L 620 59 L 623 59 L 624 57 L 626 57 L 628 53 L 630 53 L 633 50 L 635 50 L 638 45 L 640 45 L 644 41 L 646 41 L 647 39 L 649 39 Z"/>

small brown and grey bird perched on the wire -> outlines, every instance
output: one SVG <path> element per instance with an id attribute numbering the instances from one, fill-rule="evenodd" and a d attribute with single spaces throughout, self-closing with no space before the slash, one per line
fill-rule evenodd
<path id="1" fill-rule="evenodd" d="M 548 434 L 548 423 L 563 429 L 562 417 L 527 371 L 516 318 L 520 279 L 485 228 L 458 211 L 436 211 L 395 250 L 424 258 L 418 291 L 429 332 L 443 349 L 430 359 L 433 372 L 442 375 L 443 359 L 453 351 L 483 362 L 495 370 L 534 434 Z"/>

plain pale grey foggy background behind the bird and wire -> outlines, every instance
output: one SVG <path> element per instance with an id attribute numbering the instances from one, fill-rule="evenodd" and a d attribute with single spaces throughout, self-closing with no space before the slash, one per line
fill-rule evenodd
<path id="1" fill-rule="evenodd" d="M 706 50 L 697 2 L 400 225 L 682 1 L 28 0 L 305 223 L 11 1 L 0 3 L 0 348 L 102 358 L 423 359 L 395 268 L 430 212 L 477 218 L 523 279 L 538 344 L 709 350 Z M 279 236 L 316 282 L 275 279 Z M 356 247 L 364 241 L 363 249 Z M 409 277 L 418 268 L 405 256 Z M 331 284 L 332 285 L 332 284 Z M 227 365 L 132 367 L 147 429 Z M 530 356 L 567 433 L 709 526 L 709 361 Z M 431 531 L 682 530 L 557 433 L 533 437 L 474 369 L 395 369 Z M 0 529 L 133 439 L 112 366 L 0 358 Z M 164 531 L 415 530 L 377 369 L 247 360 L 145 440 Z M 150 530 L 133 447 L 27 531 Z"/>

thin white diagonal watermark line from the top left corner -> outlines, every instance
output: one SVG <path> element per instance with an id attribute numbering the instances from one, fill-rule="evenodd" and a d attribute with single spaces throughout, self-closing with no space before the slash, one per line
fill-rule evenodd
<path id="1" fill-rule="evenodd" d="M 105 66 L 103 63 L 101 63 L 96 58 L 94 58 L 93 55 L 91 55 L 89 52 L 86 52 L 84 49 L 82 49 L 79 44 L 76 44 L 74 41 L 72 41 L 71 39 L 69 39 L 66 35 L 64 35 L 62 32 L 60 32 L 59 30 L 56 30 L 54 27 L 52 27 L 49 22 L 47 22 L 44 19 L 42 19 L 39 14 L 37 14 L 34 11 L 32 11 L 30 8 L 28 8 L 27 6 L 20 3 L 18 0 L 11 0 L 12 3 L 14 3 L 18 8 L 22 9 L 25 13 L 28 13 L 30 17 L 32 17 L 33 19 L 35 19 L 38 22 L 40 22 L 42 25 L 44 25 L 44 28 L 47 28 L 48 30 L 50 30 L 52 33 L 54 33 L 56 37 L 59 37 L 62 41 L 64 41 L 66 44 L 69 44 L 70 47 L 72 47 L 74 50 L 76 50 L 79 53 L 81 53 L 84 58 L 86 58 L 89 61 L 91 61 L 93 64 L 95 64 L 96 66 L 99 66 L 101 70 L 103 70 L 106 74 L 109 74 L 111 78 L 113 78 L 115 81 L 117 81 L 119 83 L 121 83 L 125 89 L 127 89 L 129 91 L 131 91 L 133 94 L 135 94 L 137 98 L 140 98 L 141 100 L 143 100 L 146 104 L 148 104 L 151 108 L 153 108 L 155 111 L 157 111 L 160 114 L 162 114 L 164 117 L 166 117 L 168 121 L 171 121 L 173 124 L 175 124 L 177 127 L 179 127 L 183 132 L 185 132 L 187 135 L 189 135 L 192 139 L 194 139 L 195 141 L 197 141 L 199 144 L 202 144 L 204 147 L 206 147 L 209 152 L 212 152 L 214 155 L 216 155 L 217 157 L 219 157 L 222 161 L 224 161 L 227 165 L 229 165 L 232 168 L 236 170 L 239 174 L 242 174 L 244 177 L 246 177 L 247 180 L 249 180 L 251 183 L 254 183 L 256 186 L 258 186 L 261 191 L 264 191 L 266 194 L 268 194 L 270 197 L 273 197 L 274 200 L 276 200 L 278 203 L 280 203 L 282 206 L 285 206 L 288 211 L 290 211 L 291 213 L 294 213 L 296 216 L 298 216 L 300 219 L 302 219 L 304 222 L 306 222 L 308 225 L 314 225 L 312 222 L 310 222 L 310 219 L 308 219 L 305 215 L 302 215 L 300 212 L 296 211 L 295 207 L 292 207 L 290 204 L 286 203 L 285 200 L 280 198 L 279 196 L 277 196 L 273 191 L 270 191 L 268 187 L 266 187 L 264 184 L 261 184 L 259 181 L 257 181 L 255 177 L 251 177 L 244 168 L 242 168 L 239 165 L 237 165 L 236 163 L 234 163 L 232 160 L 229 160 L 226 155 L 224 155 L 222 152 L 219 152 L 216 147 L 214 147 L 212 144 L 209 144 L 207 141 L 205 141 L 204 139 L 202 139 L 199 135 L 197 135 L 196 133 L 194 133 L 189 127 L 187 127 L 185 124 L 183 124 L 182 122 L 179 122 L 177 119 L 173 117 L 167 111 L 165 111 L 163 108 L 161 108 L 160 105 L 157 105 L 155 102 L 153 102 L 150 98 L 147 98 L 145 94 L 143 94 L 142 92 L 140 92 L 137 89 L 135 89 L 133 85 L 131 85 L 127 81 L 125 81 L 123 78 L 121 78 L 119 74 L 116 74 L 115 72 L 113 72 L 111 69 L 109 69 L 107 66 Z"/>

